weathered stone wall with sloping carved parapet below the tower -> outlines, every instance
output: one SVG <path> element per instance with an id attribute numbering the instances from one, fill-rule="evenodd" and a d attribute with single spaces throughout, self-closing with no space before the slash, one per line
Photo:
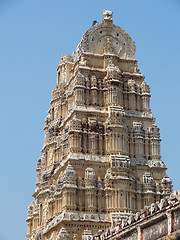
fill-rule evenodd
<path id="1" fill-rule="evenodd" d="M 99 232 L 94 235 L 94 240 L 99 239 L 139 239 L 139 240 L 170 240 L 180 237 L 180 193 L 174 192 L 170 198 L 162 199 L 166 202 L 161 208 L 153 203 L 150 207 L 145 207 L 141 212 L 137 212 L 132 220 L 119 222 L 115 227 L 111 227 L 106 232 Z M 147 213 L 148 209 L 153 211 Z"/>

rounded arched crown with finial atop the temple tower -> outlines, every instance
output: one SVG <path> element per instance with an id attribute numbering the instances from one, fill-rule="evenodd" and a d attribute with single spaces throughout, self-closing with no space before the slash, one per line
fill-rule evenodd
<path id="1" fill-rule="evenodd" d="M 84 53 L 105 54 L 107 48 L 122 59 L 134 59 L 135 43 L 121 28 L 113 24 L 112 11 L 104 11 L 103 22 L 88 29 L 73 53 L 73 58 Z"/>

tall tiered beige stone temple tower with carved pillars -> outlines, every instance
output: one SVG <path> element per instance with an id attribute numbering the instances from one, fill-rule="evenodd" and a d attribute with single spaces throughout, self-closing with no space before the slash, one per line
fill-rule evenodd
<path id="1" fill-rule="evenodd" d="M 150 89 L 112 12 L 62 56 L 45 119 L 27 239 L 91 239 L 171 193 Z"/>

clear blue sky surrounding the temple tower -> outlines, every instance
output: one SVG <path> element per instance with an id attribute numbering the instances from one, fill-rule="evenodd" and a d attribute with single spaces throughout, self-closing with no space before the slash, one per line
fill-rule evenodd
<path id="1" fill-rule="evenodd" d="M 136 43 L 162 159 L 180 189 L 179 0 L 0 0 L 0 240 L 25 239 L 56 67 L 103 10 L 112 10 Z"/>

